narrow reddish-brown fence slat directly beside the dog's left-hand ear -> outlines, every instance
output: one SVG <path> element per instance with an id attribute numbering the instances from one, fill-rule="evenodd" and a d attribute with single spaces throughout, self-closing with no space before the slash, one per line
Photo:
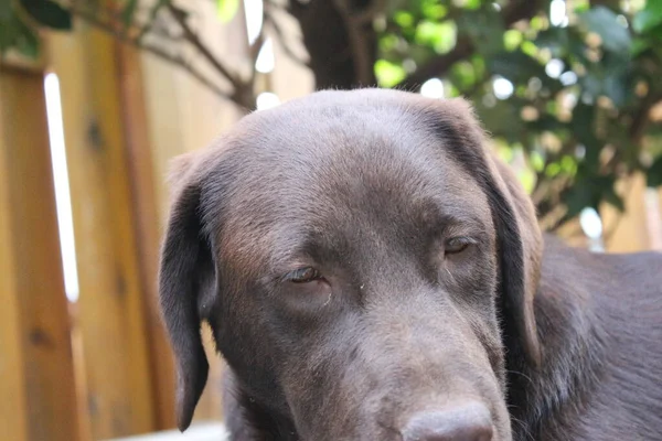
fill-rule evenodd
<path id="1" fill-rule="evenodd" d="M 160 217 L 152 172 L 151 143 L 148 133 L 141 55 L 127 45 L 118 46 L 118 77 L 121 88 L 122 127 L 127 142 L 131 181 L 137 249 L 140 254 L 141 291 L 146 309 L 150 372 L 159 430 L 177 427 L 174 408 L 174 364 L 158 304 Z"/>

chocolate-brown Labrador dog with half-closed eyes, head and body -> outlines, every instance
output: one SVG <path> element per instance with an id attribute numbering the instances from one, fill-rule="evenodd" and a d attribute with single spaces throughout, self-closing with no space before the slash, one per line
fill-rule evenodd
<path id="1" fill-rule="evenodd" d="M 662 440 L 662 255 L 544 236 L 462 99 L 319 92 L 175 160 L 160 305 L 185 430 Z"/>

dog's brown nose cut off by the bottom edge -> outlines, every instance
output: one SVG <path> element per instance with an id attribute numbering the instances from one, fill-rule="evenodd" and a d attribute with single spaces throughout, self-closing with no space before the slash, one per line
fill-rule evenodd
<path id="1" fill-rule="evenodd" d="M 402 431 L 404 441 L 490 441 L 493 429 L 488 408 L 480 402 L 412 417 Z"/>

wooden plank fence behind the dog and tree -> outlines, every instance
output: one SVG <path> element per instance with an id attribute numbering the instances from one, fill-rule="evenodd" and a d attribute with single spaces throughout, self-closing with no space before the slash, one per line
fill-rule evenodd
<path id="1" fill-rule="evenodd" d="M 242 23 L 213 32 L 231 42 Z M 173 366 L 156 308 L 163 176 L 170 158 L 203 147 L 238 114 L 185 73 L 81 23 L 45 43 L 47 63 L 0 66 L 2 439 L 87 441 L 169 429 Z M 217 47 L 224 56 L 245 55 L 225 44 Z M 310 75 L 276 55 L 278 94 L 308 92 Z M 43 88 L 49 72 L 57 74 L 62 95 L 76 302 L 65 297 L 62 272 Z M 651 247 L 644 192 L 637 180 L 610 248 Z M 207 351 L 214 362 L 199 421 L 222 418 L 222 365 L 209 344 Z"/>

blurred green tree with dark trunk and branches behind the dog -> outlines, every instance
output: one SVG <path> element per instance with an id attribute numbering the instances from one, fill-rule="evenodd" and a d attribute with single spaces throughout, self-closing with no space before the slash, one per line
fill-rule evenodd
<path id="1" fill-rule="evenodd" d="M 220 25 L 239 7 L 213 1 Z M 300 24 L 306 60 L 282 35 L 281 14 Z M 72 15 L 185 68 L 234 104 L 255 107 L 259 74 L 215 56 L 214 42 L 197 37 L 185 2 L 4 0 L 0 50 L 35 56 L 36 26 L 71 29 Z M 468 97 L 499 152 L 519 165 L 548 228 L 601 203 L 622 209 L 617 182 L 636 172 L 662 185 L 660 1 L 265 0 L 264 22 L 312 71 L 318 88 L 424 86 L 424 93 Z M 263 41 L 249 47 L 253 64 Z M 183 45 L 217 77 L 189 64 Z"/>

